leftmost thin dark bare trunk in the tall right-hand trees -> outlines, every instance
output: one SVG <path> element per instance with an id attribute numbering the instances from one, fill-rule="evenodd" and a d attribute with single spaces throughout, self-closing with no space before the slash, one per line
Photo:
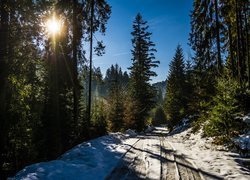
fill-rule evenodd
<path id="1" fill-rule="evenodd" d="M 216 20 L 216 44 L 217 44 L 217 68 L 221 72 L 221 50 L 220 50 L 220 23 L 218 14 L 218 0 L 215 0 L 215 20 Z"/>

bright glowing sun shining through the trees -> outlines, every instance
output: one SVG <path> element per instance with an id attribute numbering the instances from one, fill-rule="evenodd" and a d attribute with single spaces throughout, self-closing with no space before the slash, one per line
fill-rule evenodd
<path id="1" fill-rule="evenodd" d="M 61 31 L 61 22 L 53 15 L 50 19 L 46 22 L 47 32 L 51 35 L 59 34 Z"/>

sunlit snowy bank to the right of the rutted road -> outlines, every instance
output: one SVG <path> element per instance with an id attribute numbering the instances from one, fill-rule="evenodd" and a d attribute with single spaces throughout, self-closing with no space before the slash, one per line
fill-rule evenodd
<path id="1" fill-rule="evenodd" d="M 225 179 L 250 179 L 250 171 L 240 165 L 240 156 L 212 144 L 212 138 L 202 138 L 202 132 L 191 133 L 189 128 L 181 133 L 167 136 L 166 140 L 182 154 L 194 162 L 204 172 L 222 176 Z"/>

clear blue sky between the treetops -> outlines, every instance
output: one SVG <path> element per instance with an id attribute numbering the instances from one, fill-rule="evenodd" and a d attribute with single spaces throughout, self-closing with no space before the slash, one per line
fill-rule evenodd
<path id="1" fill-rule="evenodd" d="M 106 54 L 94 57 L 94 66 L 101 67 L 105 75 L 111 64 L 118 63 L 123 70 L 131 66 L 132 22 L 138 12 L 148 21 L 151 40 L 156 44 L 156 59 L 161 64 L 154 70 L 158 76 L 153 82 L 163 81 L 167 77 L 168 65 L 172 60 L 176 46 L 181 44 L 185 57 L 191 50 L 188 47 L 190 32 L 189 14 L 192 0 L 107 0 L 112 6 L 111 18 L 107 24 L 105 36 L 95 35 L 106 45 Z"/>

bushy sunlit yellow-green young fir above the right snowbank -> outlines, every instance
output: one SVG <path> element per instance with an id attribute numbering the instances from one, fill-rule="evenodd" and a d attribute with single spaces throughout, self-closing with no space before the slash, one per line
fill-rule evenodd
<path id="1" fill-rule="evenodd" d="M 234 130 L 242 130 L 240 122 L 236 120 L 240 112 L 238 99 L 240 84 L 228 75 L 218 78 L 214 105 L 207 115 L 205 134 L 208 136 L 230 137 Z"/>

